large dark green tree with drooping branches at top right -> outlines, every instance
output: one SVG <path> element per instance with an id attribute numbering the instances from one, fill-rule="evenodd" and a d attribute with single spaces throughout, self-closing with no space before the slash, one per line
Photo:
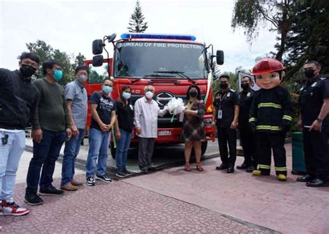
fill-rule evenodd
<path id="1" fill-rule="evenodd" d="M 329 2 L 326 0 L 235 1 L 232 27 L 244 28 L 251 44 L 260 24 L 278 33 L 276 53 L 287 66 L 286 80 L 296 77 L 306 60 L 319 60 L 329 72 Z"/>

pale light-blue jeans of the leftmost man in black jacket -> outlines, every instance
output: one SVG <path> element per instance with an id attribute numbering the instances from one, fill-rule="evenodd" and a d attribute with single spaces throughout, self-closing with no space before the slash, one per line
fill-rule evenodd
<path id="1" fill-rule="evenodd" d="M 25 147 L 25 132 L 0 131 L 8 135 L 8 143 L 3 145 L 0 141 L 0 201 L 9 201 L 14 197 L 14 187 L 19 159 Z"/>

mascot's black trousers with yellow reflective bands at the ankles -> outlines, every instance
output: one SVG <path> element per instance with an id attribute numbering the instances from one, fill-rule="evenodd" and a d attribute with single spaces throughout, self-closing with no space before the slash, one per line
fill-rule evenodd
<path id="1" fill-rule="evenodd" d="M 276 174 L 287 175 L 285 155 L 285 133 L 256 132 L 258 169 L 262 174 L 271 171 L 271 150 L 273 150 Z"/>

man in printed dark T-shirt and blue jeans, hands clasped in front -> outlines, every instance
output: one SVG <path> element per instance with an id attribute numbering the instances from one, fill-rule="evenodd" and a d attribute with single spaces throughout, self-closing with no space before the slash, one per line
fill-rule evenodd
<path id="1" fill-rule="evenodd" d="M 89 129 L 89 152 L 86 165 L 87 186 L 95 186 L 96 179 L 106 183 L 112 180 L 106 175 L 108 163 L 108 145 L 110 143 L 111 129 L 116 120 L 115 101 L 111 98 L 113 83 L 104 80 L 101 91 L 90 96 L 90 110 L 92 121 Z M 97 164 L 96 164 L 97 163 Z"/>

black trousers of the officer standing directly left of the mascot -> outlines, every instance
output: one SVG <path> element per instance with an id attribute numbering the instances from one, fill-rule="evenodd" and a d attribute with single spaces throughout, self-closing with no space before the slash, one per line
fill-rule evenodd
<path id="1" fill-rule="evenodd" d="M 242 149 L 244 150 L 244 164 L 258 165 L 256 152 L 256 136 L 251 127 L 239 127 L 240 141 Z"/>

